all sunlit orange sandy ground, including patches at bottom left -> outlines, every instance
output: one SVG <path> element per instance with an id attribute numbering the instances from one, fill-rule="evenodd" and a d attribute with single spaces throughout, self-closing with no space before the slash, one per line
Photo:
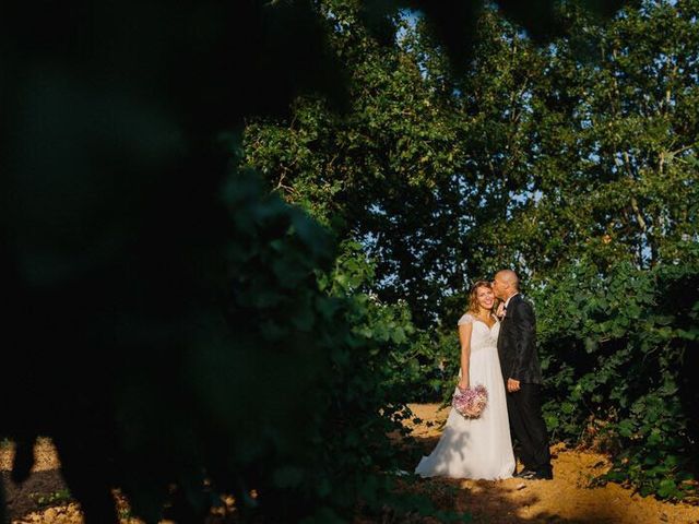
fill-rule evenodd
<path id="1" fill-rule="evenodd" d="M 448 409 L 439 409 L 437 404 L 413 404 L 411 408 L 423 420 L 417 426 L 411 426 L 412 433 L 427 454 L 439 438 L 439 426 L 447 418 Z M 615 484 L 591 488 L 591 479 L 609 467 L 608 460 L 603 455 L 566 450 L 560 445 L 554 446 L 552 452 L 553 480 L 425 479 L 416 487 L 420 492 L 428 493 L 439 508 L 473 515 L 471 522 L 474 523 L 699 524 L 697 505 L 643 498 Z M 80 507 L 73 501 L 60 497 L 47 501 L 51 495 L 66 488 L 60 476 L 60 462 L 49 440 L 37 442 L 36 464 L 31 477 L 22 486 L 15 486 L 9 478 L 12 457 L 12 445 L 0 446 L 0 473 L 13 524 L 83 522 Z M 126 502 L 118 496 L 116 500 L 120 508 L 126 508 Z M 121 520 L 121 524 L 140 522 L 126 514 Z M 222 522 L 230 521 L 212 515 L 212 524 Z M 436 521 L 427 519 L 416 522 Z M 161 524 L 168 523 L 163 521 Z"/>

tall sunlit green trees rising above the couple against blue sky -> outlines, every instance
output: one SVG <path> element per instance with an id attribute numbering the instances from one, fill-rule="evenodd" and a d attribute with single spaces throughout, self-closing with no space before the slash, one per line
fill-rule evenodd
<path id="1" fill-rule="evenodd" d="M 645 2 L 607 26 L 568 4 L 543 49 L 485 10 L 460 76 L 422 20 L 399 20 L 387 48 L 351 5 L 333 4 L 331 37 L 348 111 L 299 98 L 293 118 L 246 128 L 246 159 L 360 241 L 377 294 L 418 325 L 451 323 L 464 284 L 503 264 L 652 266 L 695 238 L 695 3 Z"/>

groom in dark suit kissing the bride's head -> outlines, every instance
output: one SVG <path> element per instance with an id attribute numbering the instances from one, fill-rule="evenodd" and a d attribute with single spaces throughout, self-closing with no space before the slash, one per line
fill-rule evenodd
<path id="1" fill-rule="evenodd" d="M 493 281 L 493 291 L 505 301 L 498 356 L 508 391 L 510 427 L 520 442 L 520 460 L 524 465 L 524 469 L 514 476 L 552 479 L 548 434 L 540 396 L 542 371 L 536 358 L 534 310 L 520 295 L 519 278 L 513 271 L 499 271 Z"/>

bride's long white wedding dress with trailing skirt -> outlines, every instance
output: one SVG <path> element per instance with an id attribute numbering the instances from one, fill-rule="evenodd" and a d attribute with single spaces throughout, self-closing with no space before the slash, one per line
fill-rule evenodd
<path id="1" fill-rule="evenodd" d="M 422 477 L 510 478 L 514 454 L 497 348 L 500 323 L 488 327 L 469 313 L 459 320 L 464 323 L 473 324 L 469 384 L 485 385 L 488 403 L 475 419 L 464 418 L 452 407 L 437 446 L 423 456 L 415 473 Z"/>

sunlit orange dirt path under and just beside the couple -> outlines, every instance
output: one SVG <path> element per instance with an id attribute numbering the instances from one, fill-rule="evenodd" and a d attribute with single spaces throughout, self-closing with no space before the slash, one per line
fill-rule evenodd
<path id="1" fill-rule="evenodd" d="M 413 434 L 428 453 L 436 444 L 439 424 L 448 409 L 437 404 L 414 404 L 411 408 L 424 422 L 413 427 Z M 427 422 L 435 422 L 428 427 Z M 439 486 L 457 487 L 455 497 L 448 501 L 453 509 L 469 512 L 475 523 L 699 523 L 699 507 L 661 502 L 652 497 L 633 495 L 615 484 L 590 488 L 590 480 L 604 473 L 609 462 L 603 455 L 552 449 L 553 480 L 500 481 L 486 480 L 424 480 L 427 490 Z"/>

